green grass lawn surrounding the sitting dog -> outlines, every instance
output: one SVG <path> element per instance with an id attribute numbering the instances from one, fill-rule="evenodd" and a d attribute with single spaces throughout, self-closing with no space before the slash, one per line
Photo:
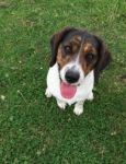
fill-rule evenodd
<path id="1" fill-rule="evenodd" d="M 84 114 L 47 99 L 49 38 L 88 28 L 113 62 Z M 0 1 L 0 164 L 126 164 L 126 1 Z"/>

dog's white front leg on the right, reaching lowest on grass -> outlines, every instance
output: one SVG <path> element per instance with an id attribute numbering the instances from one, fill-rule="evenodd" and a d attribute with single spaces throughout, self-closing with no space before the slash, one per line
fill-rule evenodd
<path id="1" fill-rule="evenodd" d="M 83 103 L 84 101 L 81 101 L 81 102 L 77 102 L 76 105 L 75 105 L 75 109 L 73 109 L 73 113 L 76 115 L 81 115 L 83 113 Z"/>

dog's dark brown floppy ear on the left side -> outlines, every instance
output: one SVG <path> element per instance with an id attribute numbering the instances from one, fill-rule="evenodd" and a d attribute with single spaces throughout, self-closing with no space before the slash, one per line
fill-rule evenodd
<path id="1" fill-rule="evenodd" d="M 49 67 L 53 67 L 56 63 L 58 46 L 59 46 L 60 42 L 64 39 L 64 37 L 71 31 L 76 31 L 76 28 L 65 27 L 62 31 L 60 31 L 51 36 L 51 38 L 50 38 L 51 59 L 49 62 Z"/>

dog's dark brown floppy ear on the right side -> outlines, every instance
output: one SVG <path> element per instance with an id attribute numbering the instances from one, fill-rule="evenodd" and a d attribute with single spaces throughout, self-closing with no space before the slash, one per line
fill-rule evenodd
<path id="1" fill-rule="evenodd" d="M 99 60 L 96 62 L 95 69 L 94 69 L 94 79 L 95 82 L 99 82 L 100 73 L 106 68 L 106 66 L 112 60 L 111 52 L 106 48 L 105 44 L 101 38 L 98 36 L 94 36 L 99 43 Z"/>

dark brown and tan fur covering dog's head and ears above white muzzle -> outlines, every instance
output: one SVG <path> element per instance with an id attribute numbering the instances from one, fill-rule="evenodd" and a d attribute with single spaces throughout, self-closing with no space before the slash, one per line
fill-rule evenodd
<path id="1" fill-rule="evenodd" d="M 71 52 L 65 52 L 65 45 L 71 47 Z M 65 27 L 62 31 L 53 35 L 50 46 L 53 55 L 50 67 L 57 61 L 60 68 L 62 68 L 68 62 L 75 60 L 79 55 L 79 62 L 85 74 L 94 69 L 95 82 L 99 80 L 102 70 L 104 70 L 111 61 L 111 54 L 104 46 L 103 40 L 83 30 Z M 87 61 L 88 54 L 95 56 L 91 62 Z"/>

